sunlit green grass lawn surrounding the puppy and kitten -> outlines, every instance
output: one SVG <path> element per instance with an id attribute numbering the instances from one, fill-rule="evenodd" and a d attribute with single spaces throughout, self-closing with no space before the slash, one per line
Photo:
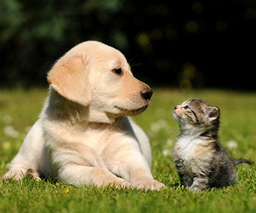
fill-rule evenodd
<path id="1" fill-rule="evenodd" d="M 29 126 L 38 118 L 47 89 L 0 91 L 0 175 L 14 158 Z M 238 165 L 238 184 L 193 193 L 179 185 L 172 160 L 178 126 L 176 104 L 198 97 L 220 108 L 220 141 L 233 158 L 256 160 L 256 94 L 154 89 L 151 107 L 134 117 L 151 139 L 152 173 L 166 190 L 73 187 L 58 180 L 0 180 L 0 212 L 256 212 L 256 165 Z M 7 133 L 7 129 L 12 132 Z M 5 131 L 4 131 L 5 129 Z M 236 148 L 230 148 L 235 141 Z M 234 143 L 234 142 L 233 142 Z M 70 190 L 66 193 L 66 190 Z"/>

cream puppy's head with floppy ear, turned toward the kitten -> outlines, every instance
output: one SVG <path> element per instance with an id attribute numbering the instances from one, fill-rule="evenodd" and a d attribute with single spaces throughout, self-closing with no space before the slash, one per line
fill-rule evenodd
<path id="1" fill-rule="evenodd" d="M 99 121 L 140 114 L 152 95 L 151 88 L 132 75 L 119 50 L 97 41 L 68 51 L 48 72 L 48 82 L 66 99 L 90 107 L 90 116 L 97 114 Z"/>

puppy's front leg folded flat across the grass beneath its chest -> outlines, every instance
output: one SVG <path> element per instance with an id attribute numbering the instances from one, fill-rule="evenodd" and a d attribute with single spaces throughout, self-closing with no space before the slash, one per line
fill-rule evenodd
<path id="1" fill-rule="evenodd" d="M 96 185 L 98 187 L 112 186 L 129 187 L 129 182 L 110 173 L 105 168 L 96 168 L 78 164 L 68 164 L 60 168 L 58 177 L 60 180 L 72 185 Z"/>

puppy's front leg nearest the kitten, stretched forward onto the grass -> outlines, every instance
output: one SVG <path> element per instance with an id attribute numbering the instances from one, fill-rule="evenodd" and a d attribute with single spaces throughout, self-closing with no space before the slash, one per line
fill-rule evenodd
<path id="1" fill-rule="evenodd" d="M 131 183 L 132 187 L 146 190 L 161 190 L 164 184 L 154 180 L 150 165 L 139 149 L 137 141 L 120 135 L 115 146 L 105 149 L 105 165 L 110 172 Z"/>

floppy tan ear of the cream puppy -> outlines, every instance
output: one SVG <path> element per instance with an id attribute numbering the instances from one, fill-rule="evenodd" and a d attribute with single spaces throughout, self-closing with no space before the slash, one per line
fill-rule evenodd
<path id="1" fill-rule="evenodd" d="M 63 97 L 87 106 L 92 92 L 87 73 L 87 55 L 60 58 L 48 72 L 47 80 Z"/>

